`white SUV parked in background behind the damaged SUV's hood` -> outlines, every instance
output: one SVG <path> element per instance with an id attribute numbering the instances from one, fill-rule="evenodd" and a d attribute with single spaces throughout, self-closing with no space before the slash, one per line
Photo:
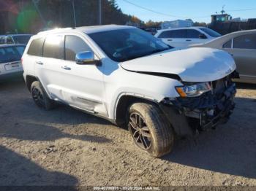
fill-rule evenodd
<path id="1" fill-rule="evenodd" d="M 206 27 L 187 27 L 159 30 L 155 36 L 172 47 L 186 48 L 191 44 L 211 41 L 221 34 Z"/>

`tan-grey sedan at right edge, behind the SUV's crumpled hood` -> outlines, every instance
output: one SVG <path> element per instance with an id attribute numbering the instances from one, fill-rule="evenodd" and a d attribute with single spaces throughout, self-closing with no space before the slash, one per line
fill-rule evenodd
<path id="1" fill-rule="evenodd" d="M 191 47 L 212 47 L 229 52 L 236 61 L 240 75 L 234 81 L 256 83 L 256 30 L 234 32 Z"/>

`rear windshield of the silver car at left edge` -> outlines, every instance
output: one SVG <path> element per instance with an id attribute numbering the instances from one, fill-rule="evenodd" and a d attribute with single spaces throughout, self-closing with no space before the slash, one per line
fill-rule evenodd
<path id="1" fill-rule="evenodd" d="M 25 46 L 0 47 L 0 63 L 20 61 Z"/>

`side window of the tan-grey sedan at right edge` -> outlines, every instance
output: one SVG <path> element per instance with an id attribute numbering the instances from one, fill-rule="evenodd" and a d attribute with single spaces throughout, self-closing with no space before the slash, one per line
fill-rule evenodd
<path id="1" fill-rule="evenodd" d="M 233 41 L 233 48 L 256 49 L 256 34 L 238 36 Z"/>

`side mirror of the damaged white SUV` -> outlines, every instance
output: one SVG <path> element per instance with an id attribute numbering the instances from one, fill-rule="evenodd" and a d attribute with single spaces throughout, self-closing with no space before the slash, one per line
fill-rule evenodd
<path id="1" fill-rule="evenodd" d="M 86 51 L 86 52 L 79 52 L 75 55 L 75 62 L 77 64 L 99 64 L 100 61 L 94 59 L 94 52 Z"/>

